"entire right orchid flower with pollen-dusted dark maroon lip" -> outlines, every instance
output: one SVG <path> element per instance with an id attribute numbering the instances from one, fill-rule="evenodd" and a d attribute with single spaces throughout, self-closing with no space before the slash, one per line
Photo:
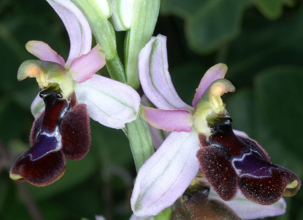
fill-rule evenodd
<path id="1" fill-rule="evenodd" d="M 183 102 L 172 85 L 165 36 L 152 37 L 139 54 L 138 66 L 143 91 L 158 108 L 142 106 L 141 114 L 152 126 L 172 132 L 138 172 L 131 197 L 135 215 L 156 215 L 171 206 L 199 170 L 224 201 L 235 198 L 238 190 L 262 205 L 296 194 L 300 179 L 272 164 L 255 140 L 232 129 L 221 99 L 223 93 L 235 91 L 223 79 L 225 64 L 205 73 L 193 106 Z"/>

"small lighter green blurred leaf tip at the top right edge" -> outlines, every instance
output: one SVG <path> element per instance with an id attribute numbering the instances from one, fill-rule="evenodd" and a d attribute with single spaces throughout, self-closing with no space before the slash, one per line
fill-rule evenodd
<path id="1" fill-rule="evenodd" d="M 277 19 L 283 13 L 283 6 L 294 6 L 293 0 L 256 0 L 257 8 L 269 19 Z"/>

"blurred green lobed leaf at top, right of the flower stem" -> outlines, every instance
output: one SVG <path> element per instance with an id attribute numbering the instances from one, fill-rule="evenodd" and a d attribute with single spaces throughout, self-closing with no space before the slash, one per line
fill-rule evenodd
<path id="1" fill-rule="evenodd" d="M 244 10 L 251 0 L 162 0 L 160 12 L 184 19 L 189 47 L 209 53 L 238 36 Z"/>

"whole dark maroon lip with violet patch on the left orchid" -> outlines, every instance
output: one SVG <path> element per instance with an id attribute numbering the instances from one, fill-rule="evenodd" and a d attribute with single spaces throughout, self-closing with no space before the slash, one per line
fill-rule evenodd
<path id="1" fill-rule="evenodd" d="M 91 137 L 86 105 L 76 105 L 75 94 L 63 99 L 59 85 L 52 83 L 40 97 L 45 111 L 33 123 L 32 147 L 17 158 L 10 173 L 17 181 L 45 186 L 64 174 L 65 157 L 80 160 L 87 154 Z"/>

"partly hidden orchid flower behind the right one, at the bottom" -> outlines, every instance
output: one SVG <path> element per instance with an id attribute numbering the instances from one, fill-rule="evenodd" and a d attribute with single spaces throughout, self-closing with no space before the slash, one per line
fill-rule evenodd
<path id="1" fill-rule="evenodd" d="M 149 102 L 145 95 L 141 97 L 141 104 L 146 107 L 152 107 L 151 102 Z M 171 132 L 156 129 L 151 125 L 149 125 L 149 128 L 152 134 L 155 149 L 158 149 Z M 237 132 L 238 135 L 248 138 L 248 135 L 244 132 L 237 130 L 235 130 L 235 132 Z M 208 206 L 208 208 L 205 206 Z M 187 213 L 193 213 L 194 216 L 191 216 L 192 218 L 198 215 L 211 216 L 212 218 L 217 217 L 216 219 L 225 219 L 227 216 L 229 216 L 231 219 L 257 219 L 284 214 L 286 211 L 286 202 L 283 198 L 281 198 L 278 202 L 272 205 L 262 206 L 246 199 L 240 191 L 237 192 L 236 197 L 232 201 L 224 201 L 208 184 L 201 172 L 198 172 L 197 176 L 194 178 L 185 192 L 173 204 L 173 207 L 175 211 L 172 220 L 186 219 L 186 217 L 189 218 Z M 221 216 L 218 213 L 218 210 Z M 222 210 L 225 212 L 222 212 Z M 236 218 L 234 214 L 236 214 L 238 218 Z M 133 214 L 130 220 L 135 217 L 136 216 Z M 148 217 L 137 217 L 136 219 L 145 218 Z"/>

